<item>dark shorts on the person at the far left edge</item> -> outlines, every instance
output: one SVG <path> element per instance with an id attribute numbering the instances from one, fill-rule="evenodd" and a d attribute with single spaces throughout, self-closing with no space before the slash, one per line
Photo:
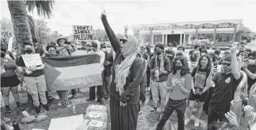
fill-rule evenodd
<path id="1" fill-rule="evenodd" d="M 19 85 L 20 81 L 17 75 L 10 77 L 1 77 L 1 88 L 5 87 L 16 87 Z"/>

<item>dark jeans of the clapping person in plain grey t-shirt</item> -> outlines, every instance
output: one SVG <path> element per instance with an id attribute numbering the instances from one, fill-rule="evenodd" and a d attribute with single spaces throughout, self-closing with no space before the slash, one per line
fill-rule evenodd
<path id="1" fill-rule="evenodd" d="M 165 123 L 168 121 L 169 116 L 172 115 L 173 111 L 177 111 L 178 116 L 178 130 L 185 129 L 185 111 L 187 107 L 186 98 L 182 100 L 172 100 L 169 98 L 167 105 L 164 108 L 162 119 L 160 119 L 159 123 L 156 126 L 156 130 L 162 130 Z"/>

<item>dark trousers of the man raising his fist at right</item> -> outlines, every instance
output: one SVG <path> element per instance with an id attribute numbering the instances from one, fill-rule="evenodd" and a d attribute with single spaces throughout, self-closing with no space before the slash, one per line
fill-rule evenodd
<path id="1" fill-rule="evenodd" d="M 208 109 L 208 129 L 210 129 L 211 128 L 210 126 L 212 125 L 212 123 L 218 121 L 218 119 L 221 122 L 227 121 L 226 117 L 225 117 L 226 112 L 227 111 L 218 110 L 216 108 L 209 107 L 209 109 Z"/>

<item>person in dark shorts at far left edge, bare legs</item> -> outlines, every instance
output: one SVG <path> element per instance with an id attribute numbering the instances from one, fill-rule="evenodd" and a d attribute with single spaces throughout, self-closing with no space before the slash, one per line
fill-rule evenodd
<path id="1" fill-rule="evenodd" d="M 1 51 L 1 93 L 3 94 L 6 113 L 12 113 L 9 108 L 9 93 L 12 91 L 14 100 L 18 107 L 19 103 L 18 85 L 20 83 L 17 73 L 21 70 L 17 67 L 13 60 L 6 58 L 4 51 Z"/>

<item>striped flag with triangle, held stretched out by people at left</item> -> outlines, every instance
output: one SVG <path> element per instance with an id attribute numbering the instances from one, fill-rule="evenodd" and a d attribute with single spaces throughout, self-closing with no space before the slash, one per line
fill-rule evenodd
<path id="1" fill-rule="evenodd" d="M 99 55 L 43 57 L 45 81 L 48 90 L 102 85 Z"/>

